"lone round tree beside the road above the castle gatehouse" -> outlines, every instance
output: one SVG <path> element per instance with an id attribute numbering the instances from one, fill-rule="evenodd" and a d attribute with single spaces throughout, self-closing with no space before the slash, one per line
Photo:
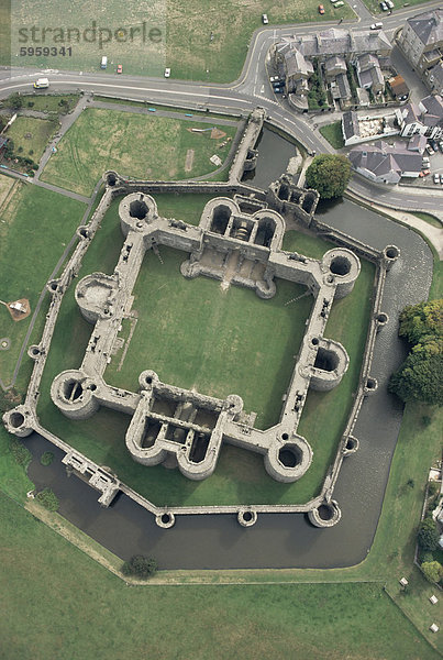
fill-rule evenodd
<path id="1" fill-rule="evenodd" d="M 309 188 L 315 188 L 322 199 L 341 197 L 351 178 L 351 163 L 346 156 L 320 154 L 306 172 Z"/>

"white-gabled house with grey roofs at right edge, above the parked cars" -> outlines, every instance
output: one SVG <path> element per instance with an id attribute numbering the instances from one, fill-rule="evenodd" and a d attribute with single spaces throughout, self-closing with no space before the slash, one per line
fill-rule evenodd
<path id="1" fill-rule="evenodd" d="M 420 133 L 425 138 L 438 139 L 443 133 L 443 99 L 428 96 L 420 103 L 407 103 L 396 109 L 400 135 L 409 138 Z"/>

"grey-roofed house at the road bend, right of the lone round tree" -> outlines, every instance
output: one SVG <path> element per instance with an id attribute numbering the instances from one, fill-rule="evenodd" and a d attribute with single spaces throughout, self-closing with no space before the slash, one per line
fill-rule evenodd
<path id="1" fill-rule="evenodd" d="M 408 151 L 402 143 L 362 144 L 351 150 L 347 157 L 356 172 L 383 184 L 398 184 L 402 177 L 417 178 L 421 172 L 421 155 Z"/>

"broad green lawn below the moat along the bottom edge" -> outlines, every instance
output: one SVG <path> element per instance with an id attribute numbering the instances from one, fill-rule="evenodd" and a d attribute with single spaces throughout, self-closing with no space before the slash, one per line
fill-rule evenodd
<path id="1" fill-rule="evenodd" d="M 3 495 L 0 516 L 5 659 L 439 657 L 380 584 L 128 588 Z"/>

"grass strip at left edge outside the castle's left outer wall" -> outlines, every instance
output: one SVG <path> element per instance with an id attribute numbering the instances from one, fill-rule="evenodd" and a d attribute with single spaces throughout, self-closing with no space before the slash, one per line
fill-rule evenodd
<path id="1" fill-rule="evenodd" d="M 85 206 L 56 193 L 0 175 L 0 273 L 1 299 L 27 298 L 31 310 L 57 260 L 63 254 Z M 44 318 L 43 312 L 43 318 Z M 9 337 L 12 345 L 0 351 L 0 378 L 9 384 L 32 315 L 13 321 L 0 306 L 0 337 Z M 31 360 L 26 356 L 24 362 Z"/>

